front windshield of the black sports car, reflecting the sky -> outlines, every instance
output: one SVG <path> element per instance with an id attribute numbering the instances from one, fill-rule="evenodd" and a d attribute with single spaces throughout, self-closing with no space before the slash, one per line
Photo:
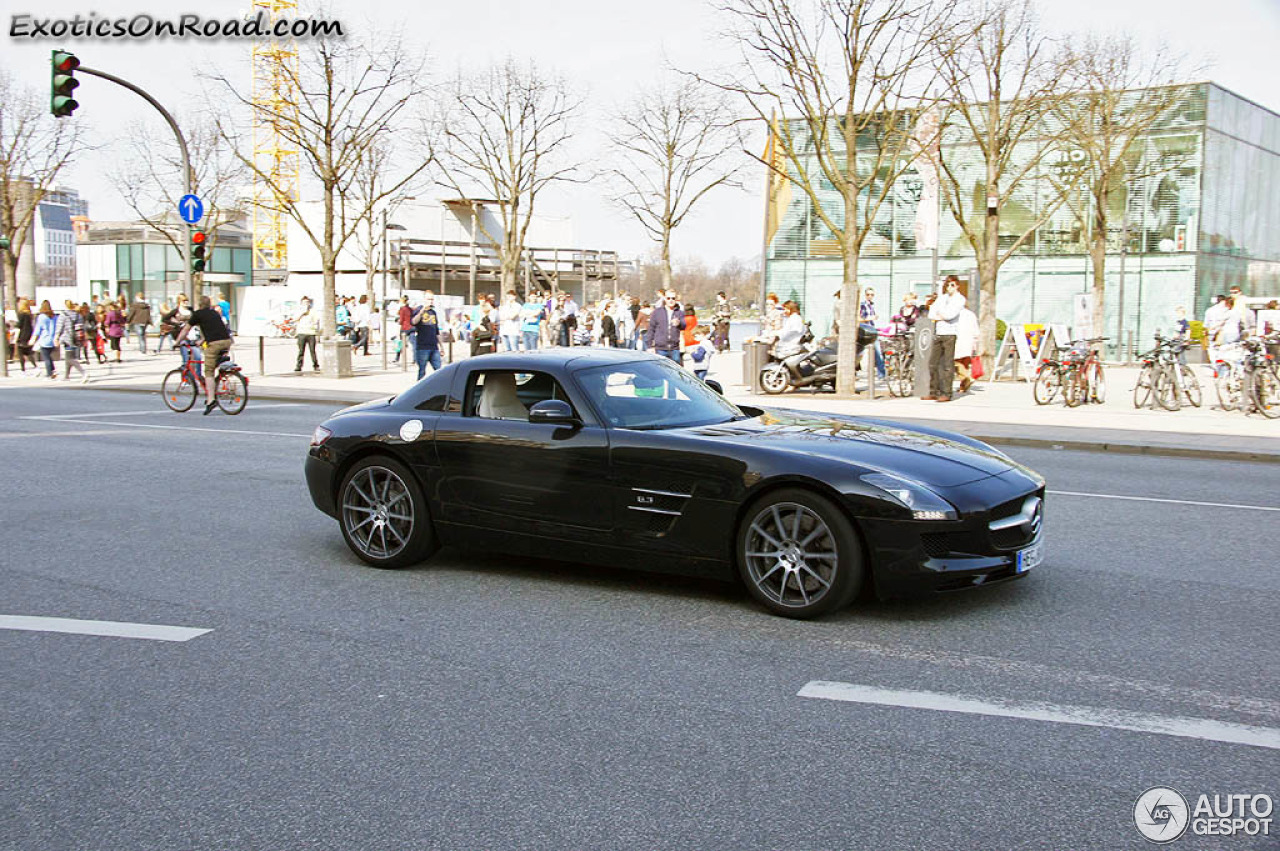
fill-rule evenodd
<path id="1" fill-rule="evenodd" d="M 595 366 L 573 376 L 614 429 L 680 429 L 745 416 L 666 358 Z"/>

